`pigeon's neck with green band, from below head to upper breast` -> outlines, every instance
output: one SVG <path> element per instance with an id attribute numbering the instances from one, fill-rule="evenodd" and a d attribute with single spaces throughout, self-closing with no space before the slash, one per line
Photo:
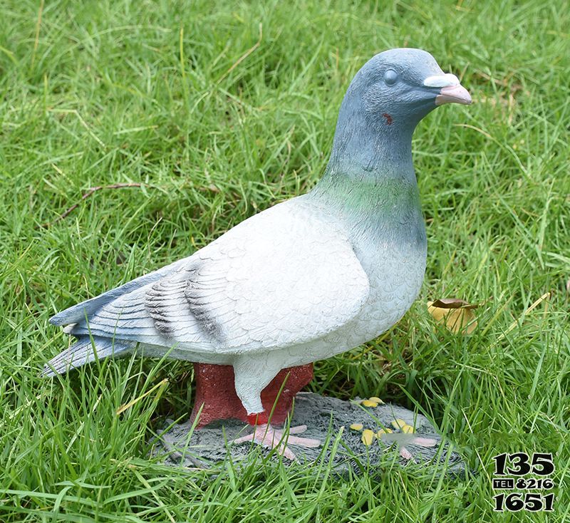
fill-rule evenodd
<path id="1" fill-rule="evenodd" d="M 394 125 L 378 132 L 362 119 L 339 117 L 331 159 L 309 197 L 343 219 L 353 242 L 425 250 L 411 152 L 414 128 L 415 123 Z"/>

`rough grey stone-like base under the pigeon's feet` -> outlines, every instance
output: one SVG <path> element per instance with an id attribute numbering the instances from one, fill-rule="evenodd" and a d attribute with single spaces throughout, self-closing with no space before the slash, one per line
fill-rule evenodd
<path id="1" fill-rule="evenodd" d="M 404 434 L 393 428 L 395 419 L 404 420 L 415 428 L 414 434 Z M 375 438 L 372 445 L 362 442 L 362 431 L 352 430 L 353 423 L 361 423 L 363 428 L 373 430 L 390 428 L 391 434 L 385 434 L 380 439 Z M 169 423 L 169 426 L 172 422 Z M 396 405 L 381 404 L 373 408 L 360 405 L 358 398 L 353 401 L 343 401 L 336 398 L 326 398 L 314 393 L 299 393 L 295 398 L 291 427 L 307 425 L 306 432 L 300 437 L 311 437 L 321 441 L 318 448 L 305 448 L 289 445 L 301 463 L 333 461 L 336 472 L 341 474 L 351 468 L 355 471 L 371 470 L 371 466 L 380 466 L 390 462 L 409 465 L 415 462 L 422 466 L 442 465 L 441 471 L 458 475 L 464 472 L 465 465 L 457 452 L 450 445 L 442 443 L 435 428 L 425 416 L 414 414 L 411 410 Z M 192 424 L 183 423 L 172 425 L 169 430 L 160 433 L 155 440 L 153 455 L 164 456 L 168 465 L 183 465 L 187 467 L 207 468 L 215 462 L 232 456 L 234 462 L 239 462 L 252 450 L 252 443 L 234 445 L 232 440 L 252 433 L 252 428 L 237 420 L 226 420 L 222 423 L 209 425 L 207 428 L 192 431 Z M 437 440 L 434 447 L 415 445 L 415 437 L 427 437 Z M 400 456 L 400 447 L 405 445 L 412 460 Z M 257 445 L 255 445 L 257 447 Z M 260 455 L 268 455 L 268 449 L 262 449 Z M 274 459 L 278 459 L 274 455 Z M 284 463 L 289 460 L 284 459 Z"/>

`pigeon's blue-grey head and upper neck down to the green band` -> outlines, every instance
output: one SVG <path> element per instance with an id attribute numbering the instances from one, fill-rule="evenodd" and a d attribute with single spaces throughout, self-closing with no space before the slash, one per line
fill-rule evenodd
<path id="1" fill-rule="evenodd" d="M 377 54 L 356 73 L 343 98 L 323 183 L 338 177 L 415 180 L 413 131 L 445 103 L 470 104 L 471 97 L 430 53 L 400 48 Z"/>

